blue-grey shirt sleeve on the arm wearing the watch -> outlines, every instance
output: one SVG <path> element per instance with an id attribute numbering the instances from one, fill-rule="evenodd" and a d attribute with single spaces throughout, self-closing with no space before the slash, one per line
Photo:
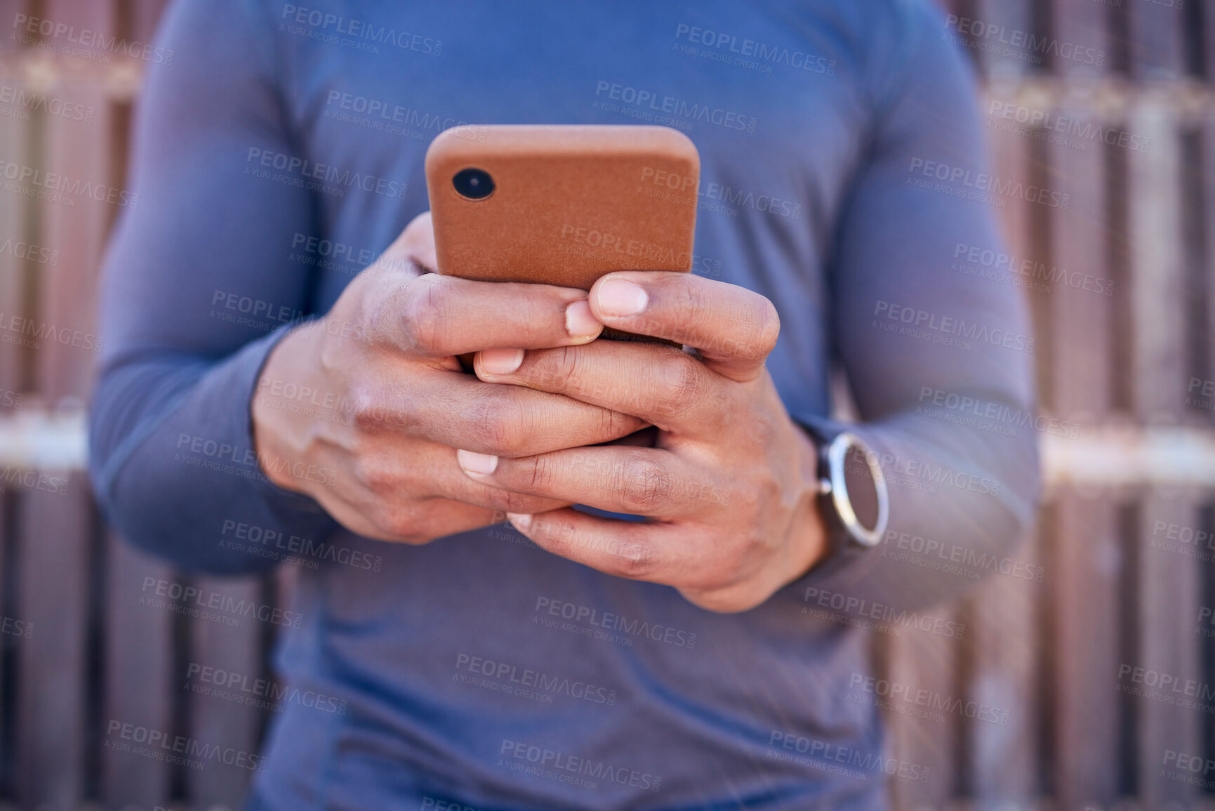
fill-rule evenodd
<path id="1" fill-rule="evenodd" d="M 861 422 L 793 415 L 859 435 L 888 483 L 882 542 L 836 553 L 795 584 L 801 599 L 844 614 L 919 608 L 1018 568 L 1010 556 L 1039 489 L 1038 348 L 1010 263 L 982 258 L 1007 258 L 999 209 L 1067 204 L 991 174 L 968 66 L 938 11 L 903 9 L 829 275 L 835 353 Z"/>

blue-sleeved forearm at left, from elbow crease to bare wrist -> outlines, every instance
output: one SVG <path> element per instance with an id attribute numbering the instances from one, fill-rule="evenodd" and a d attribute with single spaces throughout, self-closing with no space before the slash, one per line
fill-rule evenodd
<path id="1" fill-rule="evenodd" d="M 90 466 L 102 508 L 130 541 L 187 570 L 239 574 L 275 562 L 233 542 L 226 526 L 310 539 L 333 528 L 310 499 L 272 485 L 253 449 L 249 395 L 277 338 L 213 366 L 132 361 L 102 377 Z"/>

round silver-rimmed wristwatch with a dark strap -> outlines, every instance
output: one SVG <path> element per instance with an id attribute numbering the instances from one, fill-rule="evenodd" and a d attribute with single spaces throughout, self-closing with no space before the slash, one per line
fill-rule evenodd
<path id="1" fill-rule="evenodd" d="M 877 546 L 891 518 L 891 494 L 877 454 L 847 430 L 802 424 L 819 452 L 819 508 L 831 551 Z"/>

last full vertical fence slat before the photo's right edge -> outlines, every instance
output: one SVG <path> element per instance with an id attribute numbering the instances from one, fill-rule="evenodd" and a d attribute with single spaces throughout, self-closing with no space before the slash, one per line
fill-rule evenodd
<path id="1" fill-rule="evenodd" d="M 1129 226 L 1132 277 L 1132 347 L 1135 407 L 1147 424 L 1176 424 L 1186 390 L 1185 280 L 1181 233 L 1180 134 L 1174 114 L 1155 97 L 1145 96 L 1131 111 L 1130 126 L 1152 140 L 1148 152 L 1132 152 L 1129 164 Z M 1142 506 L 1138 547 L 1138 651 L 1145 668 L 1199 680 L 1193 624 L 1197 615 L 1197 568 L 1149 548 L 1157 520 L 1192 525 L 1193 499 L 1153 490 Z M 1140 793 L 1158 802 L 1186 800 L 1194 789 L 1158 777 L 1166 749 L 1197 753 L 1194 710 L 1164 702 L 1141 700 L 1137 766 Z"/>

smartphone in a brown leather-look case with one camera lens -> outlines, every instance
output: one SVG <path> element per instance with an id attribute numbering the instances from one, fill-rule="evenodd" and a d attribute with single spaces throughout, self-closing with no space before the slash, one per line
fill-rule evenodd
<path id="1" fill-rule="evenodd" d="M 436 270 L 582 289 L 690 271 L 699 185 L 700 153 L 669 126 L 456 126 L 426 151 Z"/>

